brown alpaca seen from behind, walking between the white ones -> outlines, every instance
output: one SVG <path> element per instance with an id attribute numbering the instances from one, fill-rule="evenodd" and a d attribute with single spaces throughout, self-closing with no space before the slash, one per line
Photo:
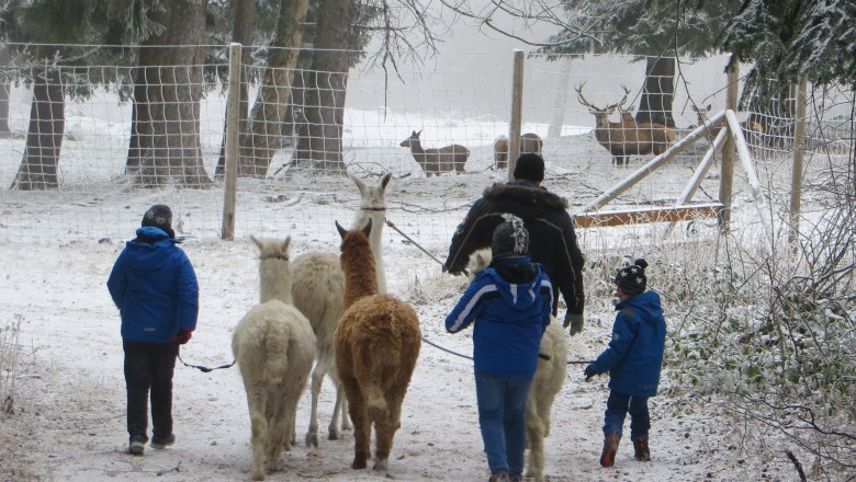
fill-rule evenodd
<path id="1" fill-rule="evenodd" d="M 374 470 L 386 470 L 402 402 L 421 346 L 416 311 L 390 295 L 378 294 L 374 255 L 369 245 L 372 223 L 341 234 L 345 314 L 335 334 L 336 369 L 353 422 L 353 469 L 369 459 L 375 429 Z"/>

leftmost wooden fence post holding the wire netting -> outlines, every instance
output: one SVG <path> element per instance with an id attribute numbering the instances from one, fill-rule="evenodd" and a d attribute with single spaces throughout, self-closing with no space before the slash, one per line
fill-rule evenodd
<path id="1" fill-rule="evenodd" d="M 223 228 L 221 239 L 235 239 L 235 208 L 238 187 L 238 128 L 240 124 L 240 50 L 229 44 L 229 93 L 226 104 L 226 185 L 223 195 Z"/>

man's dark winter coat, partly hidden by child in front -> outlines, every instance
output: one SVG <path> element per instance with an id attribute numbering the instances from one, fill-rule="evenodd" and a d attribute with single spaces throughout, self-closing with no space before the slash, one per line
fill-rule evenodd
<path id="1" fill-rule="evenodd" d="M 583 314 L 584 259 L 567 214 L 567 202 L 531 181 L 494 184 L 485 190 L 455 230 L 443 269 L 452 274 L 463 272 L 472 252 L 491 245 L 494 229 L 503 222 L 505 213 L 523 219 L 532 262 L 544 267 L 564 297 L 567 311 Z"/>

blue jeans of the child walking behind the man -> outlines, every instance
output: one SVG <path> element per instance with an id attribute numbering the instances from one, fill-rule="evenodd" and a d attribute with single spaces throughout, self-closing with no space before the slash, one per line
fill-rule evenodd
<path id="1" fill-rule="evenodd" d="M 496 375 L 475 370 L 478 425 L 491 473 L 523 473 L 526 398 L 533 375 Z"/>

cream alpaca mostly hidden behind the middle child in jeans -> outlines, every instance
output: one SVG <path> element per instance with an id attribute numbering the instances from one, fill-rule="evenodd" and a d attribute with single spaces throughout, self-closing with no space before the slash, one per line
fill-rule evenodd
<path id="1" fill-rule="evenodd" d="M 466 271 L 470 275 L 491 264 L 489 248 L 470 255 Z M 544 480 L 544 437 L 550 436 L 550 414 L 555 395 L 562 390 L 567 371 L 567 341 L 562 325 L 551 318 L 538 355 L 538 369 L 526 400 L 526 439 L 529 446 L 529 461 L 526 477 L 536 482 Z"/>

